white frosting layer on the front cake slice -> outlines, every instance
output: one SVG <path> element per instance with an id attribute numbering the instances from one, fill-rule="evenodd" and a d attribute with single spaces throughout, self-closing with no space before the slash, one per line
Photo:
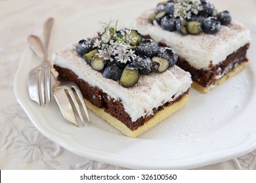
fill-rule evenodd
<path id="1" fill-rule="evenodd" d="M 77 55 L 75 44 L 53 54 L 53 63 L 70 69 L 79 78 L 91 86 L 100 88 L 112 99 L 121 99 L 125 111 L 133 122 L 141 116 L 152 114 L 153 108 L 173 101 L 186 92 L 192 84 L 190 74 L 175 66 L 163 73 L 140 75 L 139 82 L 135 86 L 124 88 L 118 82 L 104 78 L 101 73 L 93 70 Z"/>

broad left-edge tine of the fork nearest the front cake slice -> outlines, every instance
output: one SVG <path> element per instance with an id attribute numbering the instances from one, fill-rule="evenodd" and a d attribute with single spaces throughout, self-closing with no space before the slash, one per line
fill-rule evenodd
<path id="1" fill-rule="evenodd" d="M 60 111 L 62 112 L 62 115 L 66 120 L 79 126 L 77 119 L 75 118 L 75 114 L 72 110 L 70 99 L 68 99 L 68 96 L 66 95 L 65 90 L 62 90 L 62 89 L 60 88 L 60 90 L 53 91 L 54 98 L 58 104 L 58 107 L 60 108 Z"/>

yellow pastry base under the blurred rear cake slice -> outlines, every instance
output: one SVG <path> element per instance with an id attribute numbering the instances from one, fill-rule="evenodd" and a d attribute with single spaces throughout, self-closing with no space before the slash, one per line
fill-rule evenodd
<path id="1" fill-rule="evenodd" d="M 210 90 L 213 90 L 213 88 L 215 88 L 216 86 L 219 86 L 219 85 L 223 84 L 223 82 L 228 80 L 228 78 L 231 78 L 232 76 L 234 76 L 237 73 L 239 73 L 240 71 L 242 71 L 246 67 L 246 65 L 247 65 L 247 61 L 242 62 L 238 67 L 236 67 L 235 69 L 233 69 L 232 71 L 230 71 L 229 73 L 224 75 L 222 78 L 217 80 L 215 82 L 215 84 L 212 84 L 212 85 L 207 86 L 207 87 L 204 87 L 204 86 L 198 84 L 197 82 L 193 81 L 192 88 L 194 88 L 195 90 L 198 90 L 201 93 L 207 93 Z"/>

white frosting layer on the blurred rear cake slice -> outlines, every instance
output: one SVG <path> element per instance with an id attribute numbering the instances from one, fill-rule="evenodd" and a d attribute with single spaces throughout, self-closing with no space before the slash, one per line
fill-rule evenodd
<path id="1" fill-rule="evenodd" d="M 165 31 L 157 23 L 153 25 L 148 22 L 153 11 L 149 10 L 136 20 L 131 20 L 127 27 L 167 44 L 196 69 L 207 69 L 211 63 L 216 65 L 224 61 L 228 55 L 251 41 L 249 30 L 235 21 L 228 26 L 221 25 L 215 35 L 201 33 L 183 36 L 177 31 Z"/>

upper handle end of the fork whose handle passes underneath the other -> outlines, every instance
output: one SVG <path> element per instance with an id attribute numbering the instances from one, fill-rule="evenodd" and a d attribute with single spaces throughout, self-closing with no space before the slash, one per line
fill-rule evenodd
<path id="1" fill-rule="evenodd" d="M 28 43 L 30 44 L 30 48 L 32 48 L 33 52 L 37 54 L 41 61 L 47 60 L 47 58 L 45 58 L 45 50 L 43 48 L 43 44 L 39 37 L 37 37 L 36 35 L 30 35 L 28 37 Z"/>

